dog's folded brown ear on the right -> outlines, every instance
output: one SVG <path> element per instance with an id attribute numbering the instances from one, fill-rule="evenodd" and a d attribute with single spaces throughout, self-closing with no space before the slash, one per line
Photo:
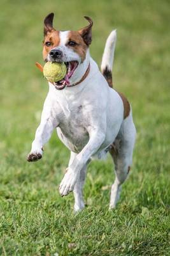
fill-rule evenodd
<path id="1" fill-rule="evenodd" d="M 90 19 L 90 17 L 84 16 L 85 19 L 89 21 L 89 25 L 86 26 L 85 28 L 81 28 L 78 33 L 80 33 L 81 37 L 83 38 L 85 44 L 88 46 L 92 42 L 92 26 L 93 26 L 93 21 Z"/>

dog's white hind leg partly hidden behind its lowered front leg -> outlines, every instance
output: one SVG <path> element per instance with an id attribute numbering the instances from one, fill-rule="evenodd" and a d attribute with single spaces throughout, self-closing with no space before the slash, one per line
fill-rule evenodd
<path id="1" fill-rule="evenodd" d="M 69 159 L 69 165 L 71 163 L 73 163 L 74 157 L 76 157 L 76 156 L 77 156 L 76 153 L 71 152 L 71 157 Z M 85 166 L 83 166 L 83 168 L 81 169 L 80 176 L 78 177 L 78 180 L 77 180 L 77 182 L 74 186 L 74 190 L 73 190 L 73 194 L 74 194 L 74 212 L 81 211 L 85 207 L 85 204 L 83 202 L 83 185 L 85 183 L 87 164 L 85 164 Z"/>

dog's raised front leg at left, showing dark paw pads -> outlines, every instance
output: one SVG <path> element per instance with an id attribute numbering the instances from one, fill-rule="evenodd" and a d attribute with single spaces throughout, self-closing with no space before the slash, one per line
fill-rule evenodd
<path id="1" fill-rule="evenodd" d="M 43 109 L 41 123 L 36 130 L 35 139 L 32 142 L 31 152 L 27 156 L 27 161 L 33 162 L 41 159 L 43 155 L 43 146 L 50 140 L 53 129 L 57 127 L 57 125 L 56 118 L 53 117 L 52 111 L 50 111 L 49 106 L 47 106 L 47 109 Z"/>

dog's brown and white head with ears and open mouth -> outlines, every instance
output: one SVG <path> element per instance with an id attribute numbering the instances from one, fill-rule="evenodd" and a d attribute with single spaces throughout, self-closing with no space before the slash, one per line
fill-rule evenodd
<path id="1" fill-rule="evenodd" d="M 78 31 L 58 31 L 53 28 L 53 13 L 44 20 L 43 58 L 45 61 L 64 62 L 67 75 L 55 83 L 62 88 L 83 76 L 83 66 L 87 58 L 87 51 L 92 42 L 92 19 L 85 17 L 89 26 Z"/>

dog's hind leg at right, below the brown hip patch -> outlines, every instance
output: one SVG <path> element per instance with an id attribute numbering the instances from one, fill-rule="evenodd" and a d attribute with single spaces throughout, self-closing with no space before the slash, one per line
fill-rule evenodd
<path id="1" fill-rule="evenodd" d="M 111 186 L 110 209 L 115 208 L 121 185 L 127 179 L 132 164 L 132 153 L 136 138 L 136 129 L 130 114 L 122 123 L 120 132 L 110 148 L 110 154 L 115 163 L 115 182 Z"/>

